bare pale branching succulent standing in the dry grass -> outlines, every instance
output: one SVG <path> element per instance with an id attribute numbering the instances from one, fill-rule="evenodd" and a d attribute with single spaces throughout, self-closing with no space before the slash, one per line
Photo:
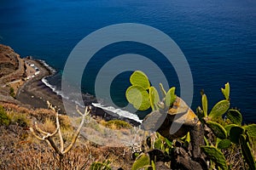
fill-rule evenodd
<path id="1" fill-rule="evenodd" d="M 47 102 L 47 104 L 49 105 L 49 109 L 51 109 L 52 111 L 55 112 L 55 118 L 56 118 L 55 132 L 54 133 L 45 132 L 40 127 L 38 127 L 37 122 L 35 122 L 35 129 L 33 127 L 30 127 L 30 130 L 31 130 L 32 134 L 37 139 L 46 141 L 55 150 L 55 153 L 59 156 L 60 169 L 62 170 L 63 169 L 63 161 L 62 160 L 64 158 L 64 155 L 67 154 L 67 152 L 73 148 L 73 144 L 75 144 L 76 140 L 78 139 L 81 128 L 84 125 L 85 116 L 87 116 L 90 111 L 89 111 L 88 107 L 86 107 L 84 114 L 82 114 L 77 107 L 77 111 L 79 112 L 79 115 L 82 116 L 82 121 L 81 121 L 76 133 L 73 135 L 71 144 L 69 144 L 67 146 L 67 148 L 65 149 L 64 148 L 64 139 L 62 138 L 61 126 L 60 126 L 60 122 L 59 122 L 59 113 L 58 113 L 58 111 L 56 111 L 56 109 L 53 105 L 49 104 L 49 102 Z M 53 139 L 57 133 L 59 134 L 61 148 L 58 148 L 58 146 L 57 146 L 58 144 L 55 144 L 55 141 Z"/>

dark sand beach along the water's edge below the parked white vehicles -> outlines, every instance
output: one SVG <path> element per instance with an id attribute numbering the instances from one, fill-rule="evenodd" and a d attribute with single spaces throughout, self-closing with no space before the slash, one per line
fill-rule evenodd
<path id="1" fill-rule="evenodd" d="M 25 82 L 19 89 L 16 94 L 16 99 L 20 101 L 21 105 L 24 105 L 29 108 L 48 108 L 47 101 L 52 105 L 55 105 L 61 114 L 66 114 L 62 97 L 60 94 L 56 94 L 52 88 L 46 85 L 43 82 L 44 78 L 52 77 L 55 74 L 55 71 L 47 65 L 43 60 L 38 59 L 29 59 L 29 62 L 37 65 L 40 73 L 37 77 L 33 77 L 31 80 Z M 104 110 L 101 107 L 93 105 L 96 102 L 96 99 L 90 94 L 84 94 L 84 104 L 90 105 L 91 115 L 95 117 L 101 117 L 105 121 L 110 121 L 113 119 L 119 119 L 125 122 L 129 122 L 134 126 L 139 126 L 141 122 L 138 122 L 136 119 L 132 119 L 125 116 L 120 116 L 117 113 L 112 111 Z M 75 105 L 71 102 L 70 105 Z M 83 108 L 80 108 L 83 110 Z"/>

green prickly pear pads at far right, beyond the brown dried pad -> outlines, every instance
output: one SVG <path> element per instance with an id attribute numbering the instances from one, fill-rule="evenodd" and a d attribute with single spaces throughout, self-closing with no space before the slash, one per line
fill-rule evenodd
<path id="1" fill-rule="evenodd" d="M 248 167 L 256 169 L 255 159 L 250 148 L 250 138 L 256 138 L 256 125 L 241 126 L 240 111 L 230 109 L 229 83 L 226 83 L 225 88 L 221 88 L 221 91 L 225 99 L 214 105 L 209 114 L 207 112 L 207 95 L 202 94 L 202 110 L 200 107 L 197 109 L 198 115 L 201 115 L 201 122 L 211 129 L 214 136 L 213 140 L 208 139 L 207 146 L 202 146 L 201 149 L 218 167 L 228 169 L 224 154 L 220 150 L 228 149 L 232 144 L 237 144 L 241 147 L 242 156 Z M 225 119 L 223 119 L 224 114 Z"/>

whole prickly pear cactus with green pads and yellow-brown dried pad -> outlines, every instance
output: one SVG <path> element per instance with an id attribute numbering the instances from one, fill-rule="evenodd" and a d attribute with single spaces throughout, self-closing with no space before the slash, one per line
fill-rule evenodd
<path id="1" fill-rule="evenodd" d="M 148 77 L 142 71 L 135 71 L 131 75 L 130 82 L 131 87 L 127 88 L 125 94 L 129 103 L 140 111 L 152 108 L 152 112 L 143 119 L 143 129 L 159 132 L 166 138 L 166 141 L 159 138 L 152 143 L 148 141 L 150 142 L 150 144 L 147 143 L 149 148 L 160 150 L 170 156 L 173 147 L 177 146 L 168 139 L 181 139 L 184 148 L 189 148 L 189 144 L 192 145 L 191 153 L 194 158 L 203 156 L 201 154 L 204 152 L 211 160 L 210 167 L 216 166 L 218 169 L 228 169 L 221 150 L 232 150 L 230 146 L 236 144 L 236 146 L 241 146 L 242 155 L 250 169 L 256 169 L 250 148 L 250 144 L 253 144 L 251 138 L 256 139 L 256 125 L 241 126 L 242 116 L 240 111 L 230 109 L 229 82 L 225 84 L 224 88 L 221 88 L 224 99 L 214 105 L 212 111 L 208 111 L 207 95 L 202 94 L 202 105 L 197 108 L 197 115 L 185 104 L 183 99 L 176 96 L 175 88 L 170 88 L 166 93 L 162 84 L 160 84 L 163 97 L 160 100 L 157 90 L 150 86 Z M 226 114 L 227 119 L 223 119 L 224 114 Z M 178 119 L 176 119 L 177 117 Z M 232 124 L 229 124 L 230 122 Z M 173 123 L 179 123 L 178 125 L 181 125 L 181 127 L 177 132 L 170 133 Z M 203 127 L 206 128 L 206 132 L 210 128 L 214 135 L 208 133 L 210 135 L 204 136 Z M 189 138 L 189 134 L 191 138 Z M 184 135 L 187 138 L 182 139 Z M 209 144 L 214 144 L 215 147 Z M 147 152 L 147 154 L 143 153 L 137 156 L 132 170 L 154 169 L 154 161 L 150 162 L 150 153 Z M 175 162 L 175 159 L 172 161 Z M 185 165 L 188 164 L 184 163 L 183 166 Z M 202 161 L 201 167 L 206 168 L 207 162 Z"/>

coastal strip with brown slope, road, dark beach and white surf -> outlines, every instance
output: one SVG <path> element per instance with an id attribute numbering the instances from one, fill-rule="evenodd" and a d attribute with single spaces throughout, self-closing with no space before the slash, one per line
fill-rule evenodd
<path id="1" fill-rule="evenodd" d="M 61 92 L 56 91 L 47 77 L 55 76 L 56 71 L 44 60 L 32 59 L 31 56 L 20 58 L 19 54 L 9 46 L 0 44 L 0 102 L 24 106 L 29 109 L 47 109 L 47 101 L 54 105 L 61 114 L 66 114 L 62 99 L 66 99 Z M 90 94 L 82 94 L 84 105 L 90 106 L 91 115 L 100 121 L 113 119 L 129 122 L 139 126 L 141 120 L 129 111 L 104 106 L 97 102 Z M 75 111 L 76 102 L 68 101 L 68 110 Z M 79 107 L 82 111 L 84 108 Z"/>

